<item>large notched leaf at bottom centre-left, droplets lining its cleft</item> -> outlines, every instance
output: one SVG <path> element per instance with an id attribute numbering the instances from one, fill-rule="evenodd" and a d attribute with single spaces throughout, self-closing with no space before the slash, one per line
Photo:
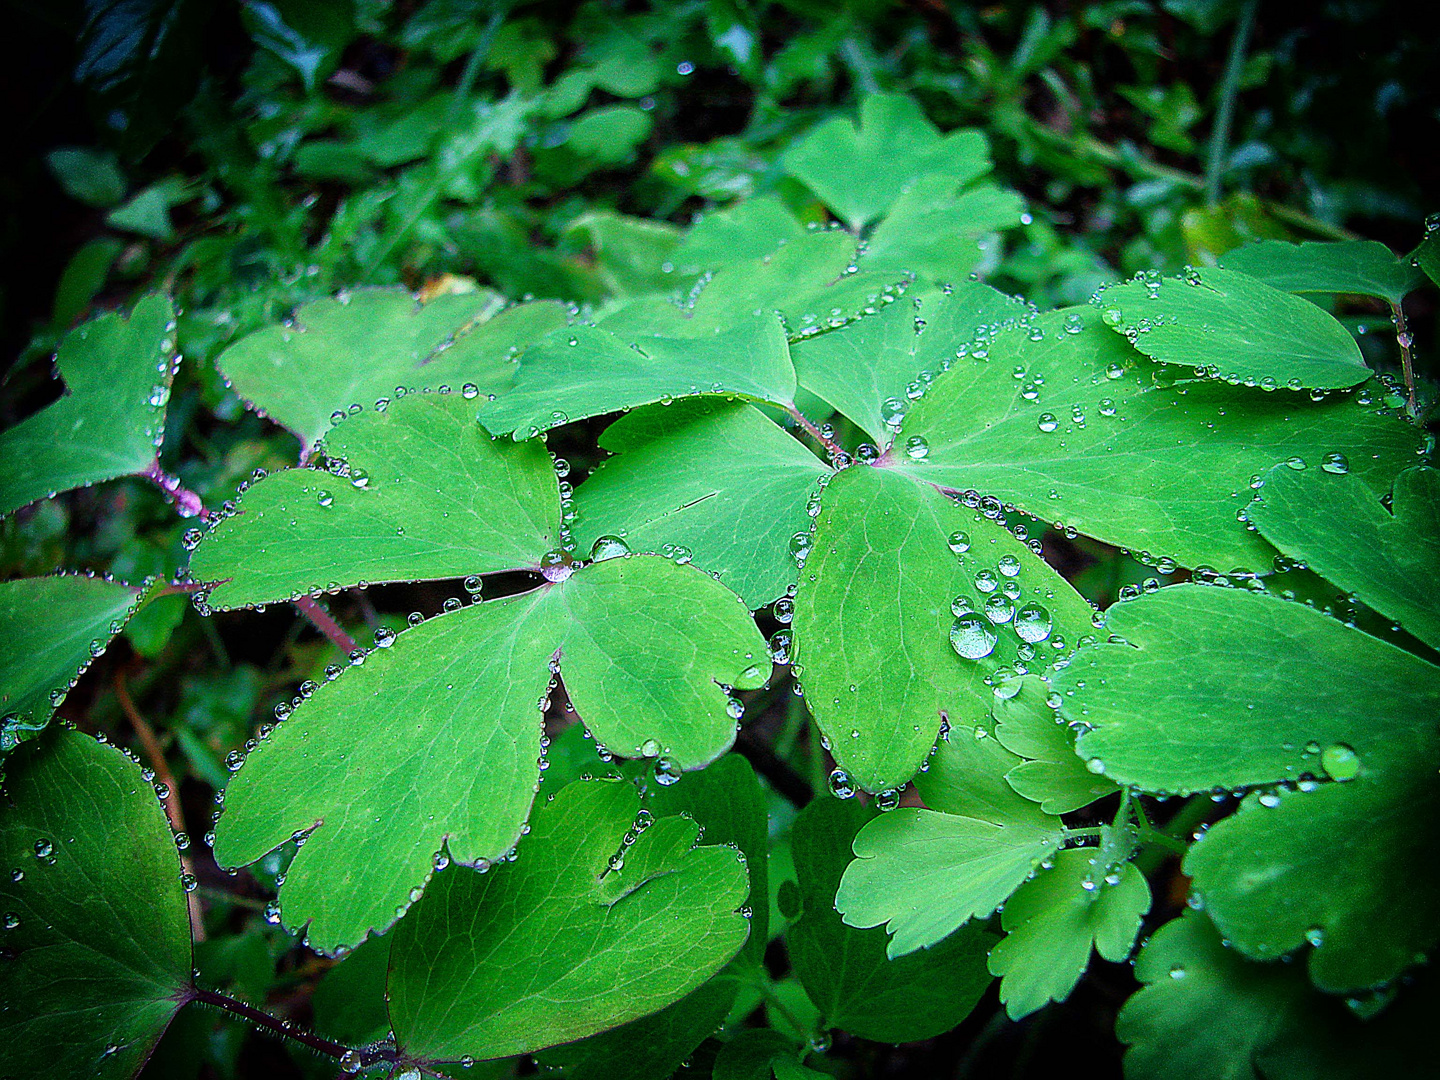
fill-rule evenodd
<path id="1" fill-rule="evenodd" d="M 439 874 L 396 930 L 390 1017 L 428 1060 L 497 1058 L 655 1012 L 743 945 L 744 867 L 657 818 L 628 848 L 639 796 L 572 783 L 541 808 L 514 864 Z M 619 864 L 612 863 L 621 855 Z"/>

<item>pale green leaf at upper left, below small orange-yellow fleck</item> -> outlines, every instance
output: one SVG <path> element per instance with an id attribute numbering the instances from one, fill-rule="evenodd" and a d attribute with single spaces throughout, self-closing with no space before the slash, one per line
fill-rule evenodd
<path id="1" fill-rule="evenodd" d="M 494 343 L 492 353 L 462 348 L 455 354 L 461 364 L 442 350 L 461 347 L 458 336 L 501 307 L 490 291 L 419 305 L 405 289 L 357 289 L 305 304 L 292 321 L 240 338 L 216 363 L 240 397 L 308 448 L 337 415 L 353 406 L 370 410 L 382 397 L 397 397 L 397 387 L 415 390 L 419 382 L 459 390 L 472 383 L 494 393 L 510 374 L 504 346 L 527 344 L 523 334 Z"/>

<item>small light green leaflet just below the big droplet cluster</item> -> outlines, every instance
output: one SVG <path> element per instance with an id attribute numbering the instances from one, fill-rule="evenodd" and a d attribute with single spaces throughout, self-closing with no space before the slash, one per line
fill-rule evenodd
<path id="1" fill-rule="evenodd" d="M 1047 704 L 1050 687 L 1038 675 L 996 690 L 991 714 L 995 737 L 1027 760 L 1005 773 L 1005 782 L 1045 814 L 1070 814 L 1096 799 L 1115 795 L 1113 780 L 1096 776 L 1076 753 L 1074 733 Z"/>

